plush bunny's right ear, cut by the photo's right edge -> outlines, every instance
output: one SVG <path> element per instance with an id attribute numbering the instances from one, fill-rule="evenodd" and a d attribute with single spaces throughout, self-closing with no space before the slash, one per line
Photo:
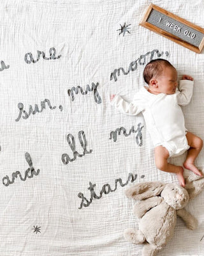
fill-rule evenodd
<path id="1" fill-rule="evenodd" d="M 202 172 L 203 173 L 203 172 Z M 200 194 L 204 186 L 204 176 L 200 177 L 191 172 L 185 179 L 185 189 L 189 193 L 189 200 L 193 199 L 196 195 Z"/>

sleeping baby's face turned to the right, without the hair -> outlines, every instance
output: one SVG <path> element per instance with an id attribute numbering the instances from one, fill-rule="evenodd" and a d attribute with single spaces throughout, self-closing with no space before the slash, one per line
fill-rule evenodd
<path id="1" fill-rule="evenodd" d="M 164 67 L 163 72 L 156 78 L 157 93 L 173 94 L 177 89 L 177 70 L 173 67 Z"/>

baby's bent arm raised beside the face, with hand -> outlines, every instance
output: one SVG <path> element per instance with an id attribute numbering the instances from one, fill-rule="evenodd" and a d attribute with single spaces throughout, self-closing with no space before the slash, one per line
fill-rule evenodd
<path id="1" fill-rule="evenodd" d="M 183 75 L 179 83 L 179 91 L 180 93 L 177 95 L 178 104 L 186 106 L 193 95 L 193 77 Z"/>

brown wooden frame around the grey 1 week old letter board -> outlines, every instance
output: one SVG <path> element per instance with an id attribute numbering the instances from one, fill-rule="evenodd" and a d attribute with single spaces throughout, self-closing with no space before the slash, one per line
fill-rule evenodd
<path id="1" fill-rule="evenodd" d="M 162 36 L 170 39 L 171 41 L 190 49 L 191 51 L 194 51 L 194 52 L 197 52 L 197 53 L 200 53 L 202 51 L 203 46 L 204 46 L 204 36 L 203 36 L 203 39 L 201 40 L 201 43 L 200 43 L 199 47 L 196 47 L 194 45 L 191 45 L 188 42 L 185 42 L 184 40 L 180 39 L 179 37 L 177 37 L 175 35 L 172 35 L 171 33 L 168 33 L 168 32 L 164 31 L 161 28 L 157 28 L 156 26 L 147 22 L 147 19 L 150 15 L 150 12 L 153 9 L 157 10 L 158 12 L 163 13 L 164 15 L 166 15 L 168 17 L 171 17 L 172 19 L 175 19 L 175 20 L 177 20 L 177 21 L 179 21 L 179 22 L 181 22 L 181 23 L 183 23 L 183 24 L 185 24 L 185 25 L 187 25 L 187 26 L 189 26 L 193 29 L 196 29 L 196 30 L 198 30 L 198 31 L 200 31 L 201 33 L 204 34 L 204 29 L 203 28 L 201 28 L 201 27 L 199 27 L 199 26 L 197 26 L 197 25 L 195 25 L 195 24 L 193 24 L 193 23 L 191 23 L 191 22 L 189 22 L 185 19 L 182 19 L 179 16 L 177 16 L 177 15 L 171 13 L 171 12 L 168 12 L 168 11 L 164 10 L 163 8 L 160 8 L 159 6 L 156 6 L 155 4 L 150 4 L 150 6 L 148 7 L 147 12 L 145 13 L 145 16 L 143 17 L 142 22 L 140 22 L 141 26 L 154 31 L 157 34 L 162 35 Z"/>

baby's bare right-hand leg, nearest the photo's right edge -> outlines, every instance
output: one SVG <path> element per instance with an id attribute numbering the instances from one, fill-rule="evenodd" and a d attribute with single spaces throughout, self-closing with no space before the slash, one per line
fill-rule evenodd
<path id="1" fill-rule="evenodd" d="M 184 167 L 202 176 L 198 168 L 194 166 L 194 161 L 203 147 L 203 141 L 201 140 L 201 138 L 197 137 L 191 132 L 187 132 L 186 138 L 190 148 L 189 150 L 187 150 L 187 157 L 186 157 L 186 161 L 184 162 Z"/>

